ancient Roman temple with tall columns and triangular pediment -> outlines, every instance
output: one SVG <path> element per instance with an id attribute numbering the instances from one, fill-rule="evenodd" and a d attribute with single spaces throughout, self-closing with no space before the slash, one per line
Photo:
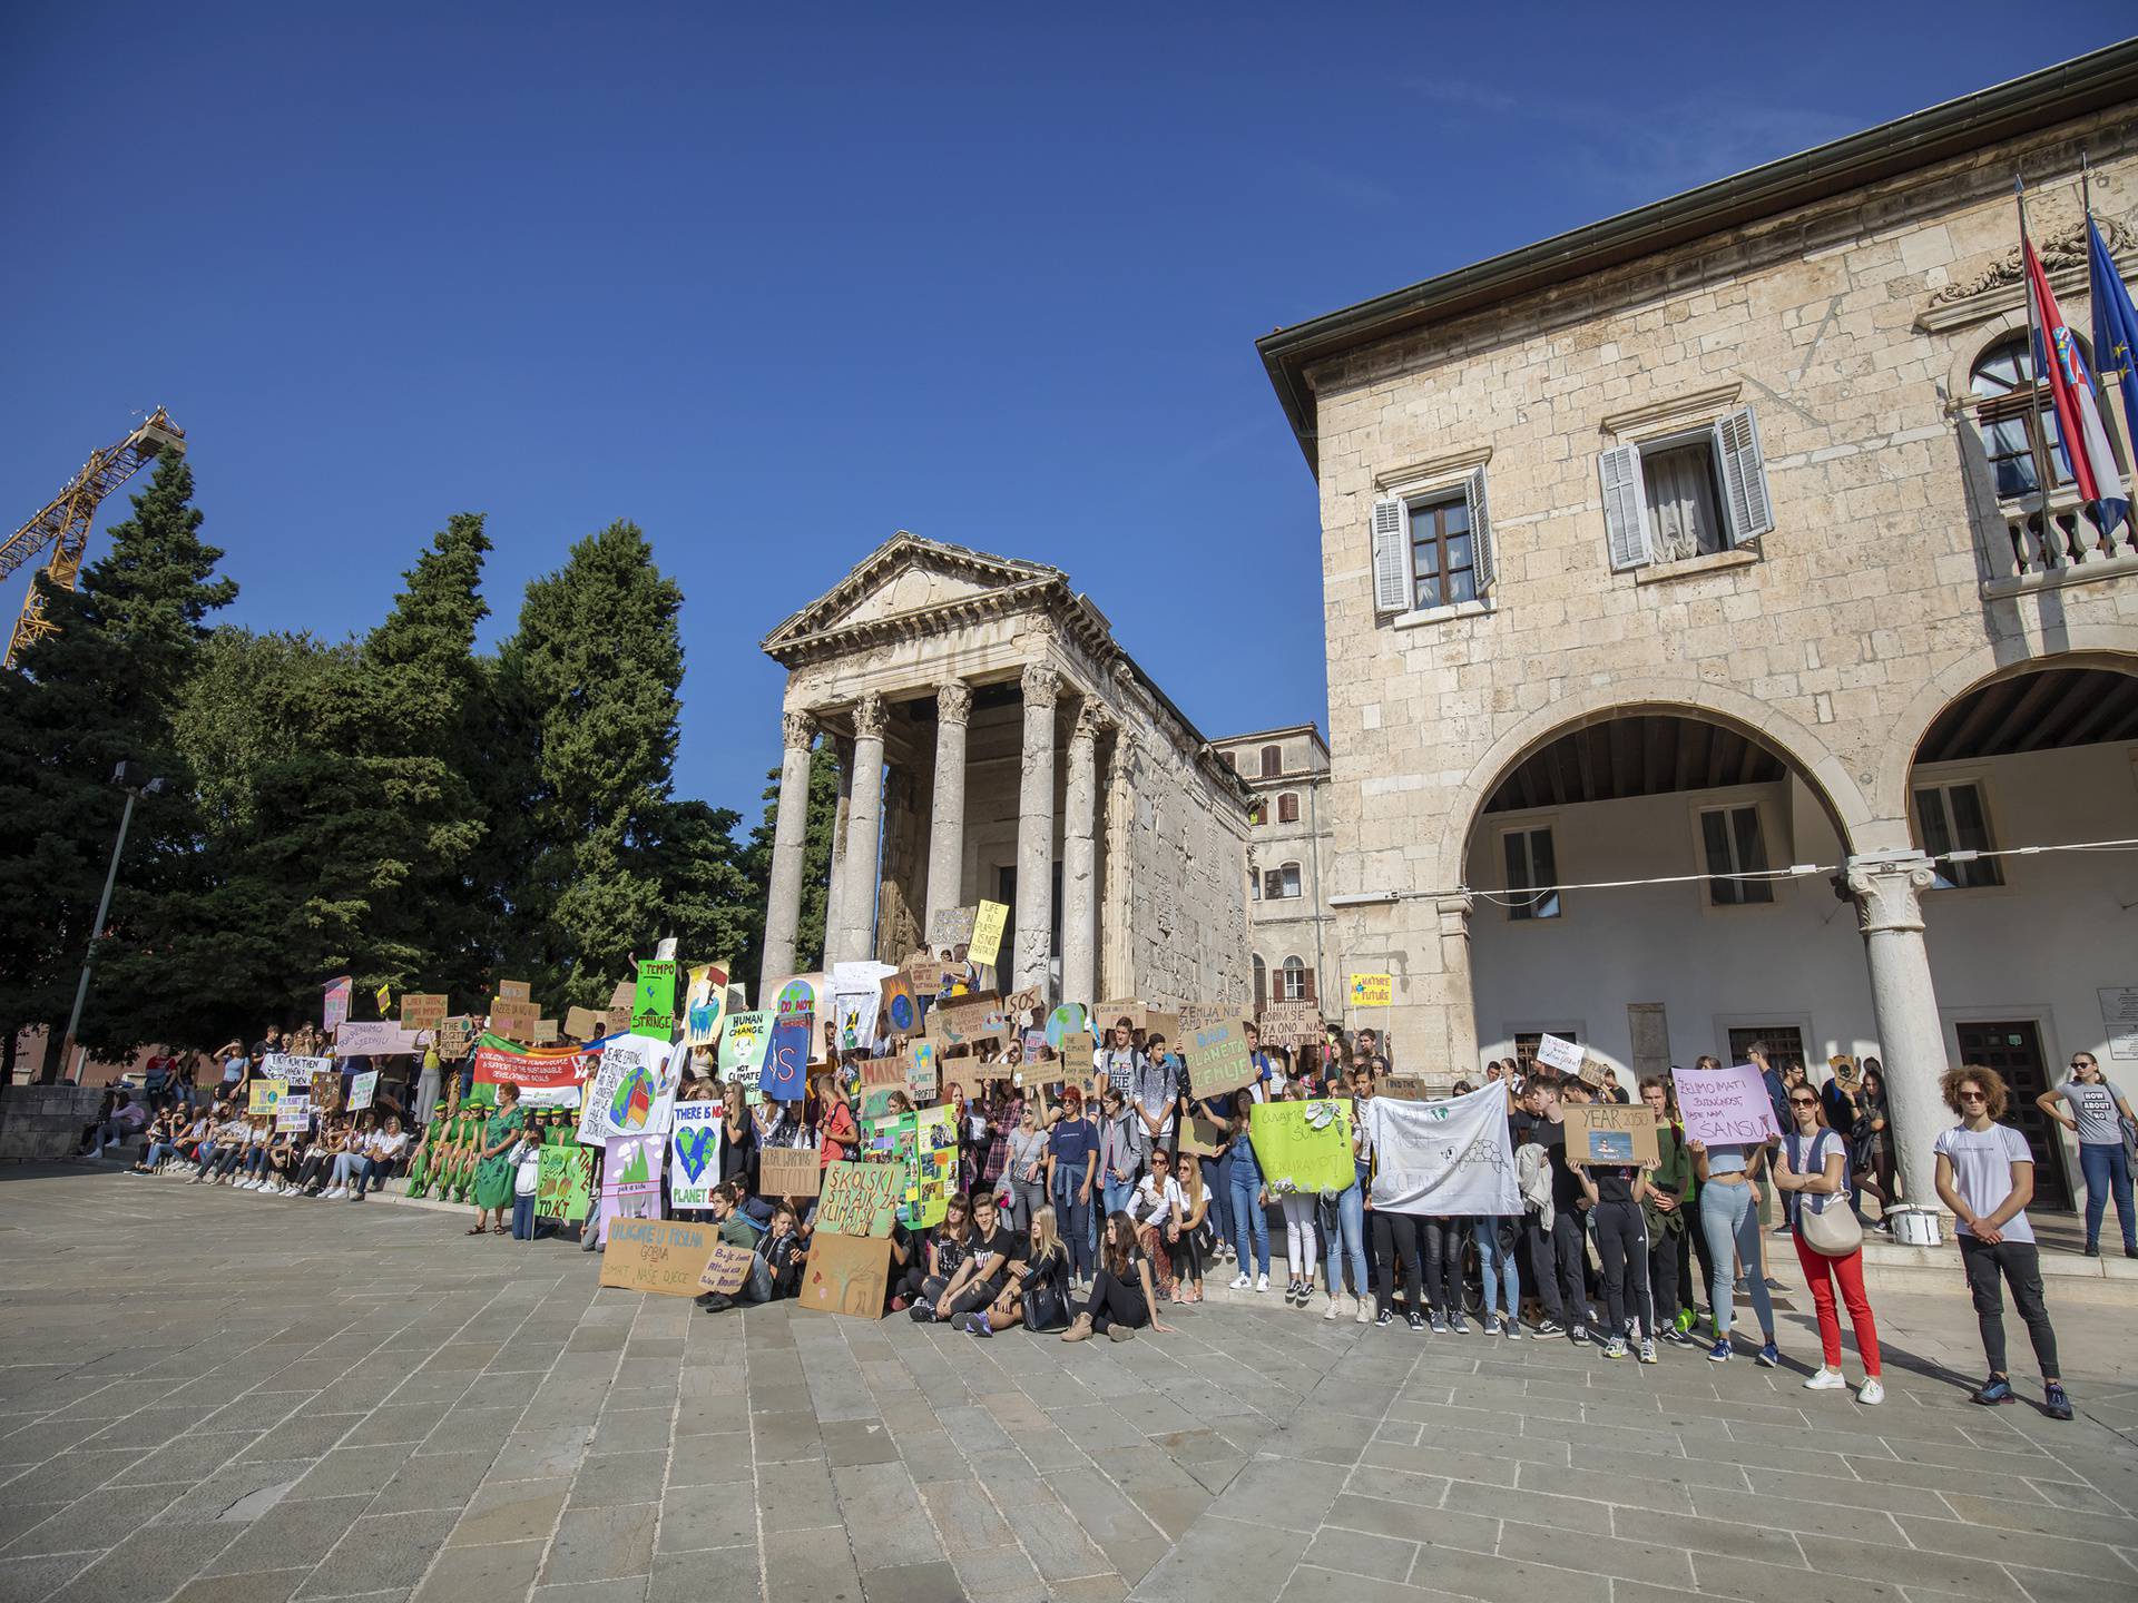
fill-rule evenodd
<path id="1" fill-rule="evenodd" d="M 898 962 L 990 900 L 1011 906 L 1009 985 L 1246 998 L 1249 791 L 1060 569 L 900 532 L 763 648 L 787 669 L 768 981 L 793 972 L 823 737 L 827 964 Z"/>

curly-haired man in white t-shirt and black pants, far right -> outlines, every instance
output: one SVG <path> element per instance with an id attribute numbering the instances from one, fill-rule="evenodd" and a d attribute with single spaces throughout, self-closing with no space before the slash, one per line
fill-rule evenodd
<path id="1" fill-rule="evenodd" d="M 1952 1210 L 1961 1233 L 1961 1263 L 1990 1366 L 1990 1379 L 1976 1391 L 1976 1402 L 1995 1406 L 2014 1400 L 2005 1370 L 2001 1274 L 2042 1366 L 2042 1406 L 2050 1419 L 2070 1419 L 2072 1400 L 2057 1368 L 2057 1332 L 2042 1302 L 2042 1257 L 2033 1244 L 2033 1225 L 2027 1223 L 2033 1150 L 2025 1135 L 1997 1122 L 2008 1103 L 2003 1075 L 1997 1071 L 1978 1064 L 1954 1069 L 1943 1079 L 1943 1092 L 1961 1122 L 1937 1137 L 1937 1199 Z"/>

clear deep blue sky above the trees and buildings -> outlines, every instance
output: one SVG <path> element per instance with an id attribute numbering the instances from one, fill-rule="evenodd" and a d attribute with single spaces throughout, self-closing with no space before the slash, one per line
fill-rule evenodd
<path id="1" fill-rule="evenodd" d="M 162 404 L 235 622 L 363 631 L 472 509 L 494 637 L 631 517 L 686 594 L 678 789 L 748 819 L 757 641 L 898 528 L 1067 569 L 1204 733 L 1321 722 L 1255 336 L 2132 17 L 763 11 L 9 6 L 0 524 Z"/>

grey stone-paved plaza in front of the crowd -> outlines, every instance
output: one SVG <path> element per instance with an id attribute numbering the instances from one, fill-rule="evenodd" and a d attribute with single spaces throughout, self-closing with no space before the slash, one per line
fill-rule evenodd
<path id="1" fill-rule="evenodd" d="M 464 1223 L 0 1178 L 0 1601 L 2138 1594 L 2123 1308 L 2057 1308 L 2057 1426 L 1967 1402 L 1965 1297 L 1879 1299 L 1866 1411 L 1798 1387 L 1802 1317 L 1781 1372 L 1274 1297 L 979 1342 L 699 1314 Z"/>

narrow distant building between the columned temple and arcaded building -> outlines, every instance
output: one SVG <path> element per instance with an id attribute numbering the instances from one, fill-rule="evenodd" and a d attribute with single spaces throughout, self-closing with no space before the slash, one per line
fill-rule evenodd
<path id="1" fill-rule="evenodd" d="M 1343 972 L 1330 949 L 1330 748 L 1315 725 L 1257 729 L 1210 742 L 1253 793 L 1246 913 L 1255 1007 L 1321 1002 Z"/>

